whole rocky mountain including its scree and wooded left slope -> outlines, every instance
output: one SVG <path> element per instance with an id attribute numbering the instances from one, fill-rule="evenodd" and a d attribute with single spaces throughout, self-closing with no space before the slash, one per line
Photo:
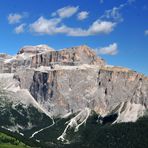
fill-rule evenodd
<path id="1" fill-rule="evenodd" d="M 71 129 L 78 132 L 91 116 L 102 124 L 135 122 L 147 109 L 148 77 L 107 65 L 87 46 L 26 46 L 15 56 L 0 54 L 3 130 L 68 144 Z"/>

